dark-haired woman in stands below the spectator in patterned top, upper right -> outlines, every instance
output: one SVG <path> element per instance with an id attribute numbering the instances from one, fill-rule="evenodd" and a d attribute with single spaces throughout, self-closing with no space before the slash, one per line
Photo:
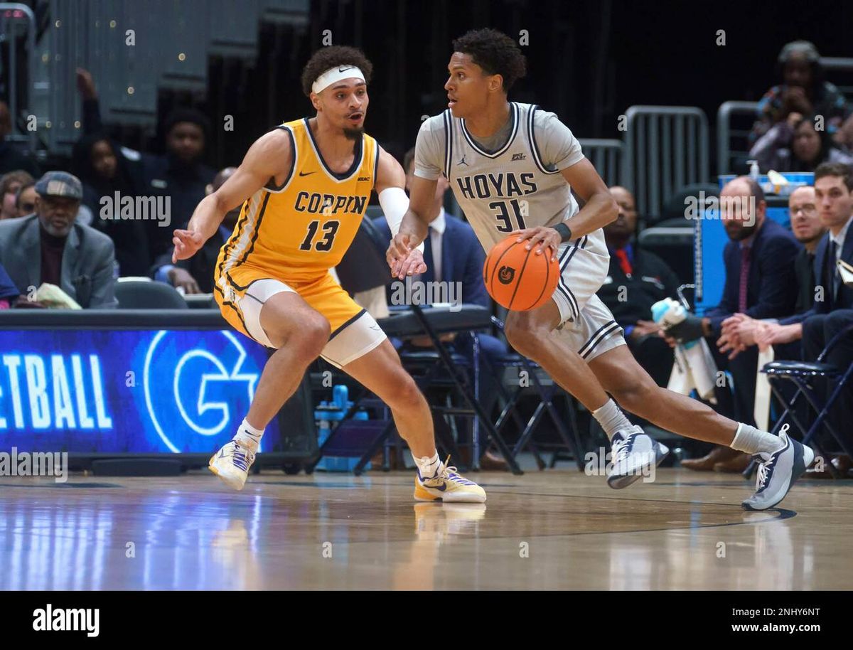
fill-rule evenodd
<path id="1" fill-rule="evenodd" d="M 815 125 L 821 125 L 820 119 L 817 115 L 790 113 L 753 145 L 750 158 L 758 161 L 763 174 L 771 169 L 815 171 L 817 165 L 825 162 L 853 165 L 853 155 L 838 148 L 826 129 L 815 130 Z"/>

